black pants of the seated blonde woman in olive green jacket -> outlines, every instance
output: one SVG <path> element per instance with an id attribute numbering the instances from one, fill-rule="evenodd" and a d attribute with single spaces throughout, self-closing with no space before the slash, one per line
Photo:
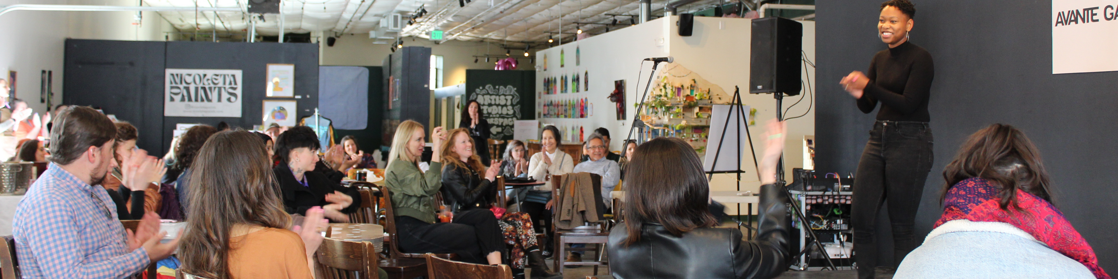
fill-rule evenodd
<path id="1" fill-rule="evenodd" d="M 454 214 L 449 223 L 429 224 L 411 217 L 396 219 L 400 250 L 409 253 L 457 253 L 462 261 L 489 264 L 485 256 L 504 250 L 496 217 L 484 209 Z"/>

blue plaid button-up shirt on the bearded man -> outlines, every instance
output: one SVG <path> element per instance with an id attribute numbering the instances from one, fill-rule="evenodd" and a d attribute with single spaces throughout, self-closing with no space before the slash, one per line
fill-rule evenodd
<path id="1" fill-rule="evenodd" d="M 150 262 L 143 248 L 129 251 L 105 189 L 54 163 L 19 202 L 12 234 L 25 279 L 125 278 Z"/>

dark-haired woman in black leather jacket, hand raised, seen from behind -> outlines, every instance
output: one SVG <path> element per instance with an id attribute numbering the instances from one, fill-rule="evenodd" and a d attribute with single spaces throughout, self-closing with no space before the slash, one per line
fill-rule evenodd
<path id="1" fill-rule="evenodd" d="M 788 269 L 788 195 L 776 182 L 784 125 L 769 125 L 757 237 L 717 228 L 710 185 L 693 147 L 659 137 L 636 147 L 625 180 L 625 221 L 609 232 L 614 278 L 773 278 Z"/>

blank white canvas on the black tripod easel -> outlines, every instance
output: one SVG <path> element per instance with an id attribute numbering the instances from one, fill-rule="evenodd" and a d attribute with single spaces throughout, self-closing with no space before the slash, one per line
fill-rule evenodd
<path id="1" fill-rule="evenodd" d="M 738 109 L 741 109 L 739 113 Z M 726 119 L 730 123 L 727 124 Z M 741 170 L 741 161 L 746 160 L 745 146 L 749 143 L 746 122 L 749 121 L 749 106 L 714 105 L 711 109 L 710 133 L 707 134 L 707 156 L 702 161 L 702 170 L 707 172 L 728 172 Z M 724 135 L 722 132 L 726 132 Z M 722 145 L 722 143 L 727 143 Z M 721 148 L 719 148 L 721 146 Z M 714 165 L 718 156 L 718 165 Z"/>

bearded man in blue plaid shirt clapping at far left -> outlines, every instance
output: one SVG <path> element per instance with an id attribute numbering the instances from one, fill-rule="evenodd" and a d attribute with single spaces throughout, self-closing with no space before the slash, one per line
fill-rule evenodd
<path id="1" fill-rule="evenodd" d="M 54 121 L 50 162 L 16 209 L 12 234 L 22 278 L 126 278 L 169 257 L 178 240 L 160 243 L 159 215 L 135 233 L 117 221 L 100 185 L 116 166 L 116 127 L 105 115 L 72 106 Z"/>

